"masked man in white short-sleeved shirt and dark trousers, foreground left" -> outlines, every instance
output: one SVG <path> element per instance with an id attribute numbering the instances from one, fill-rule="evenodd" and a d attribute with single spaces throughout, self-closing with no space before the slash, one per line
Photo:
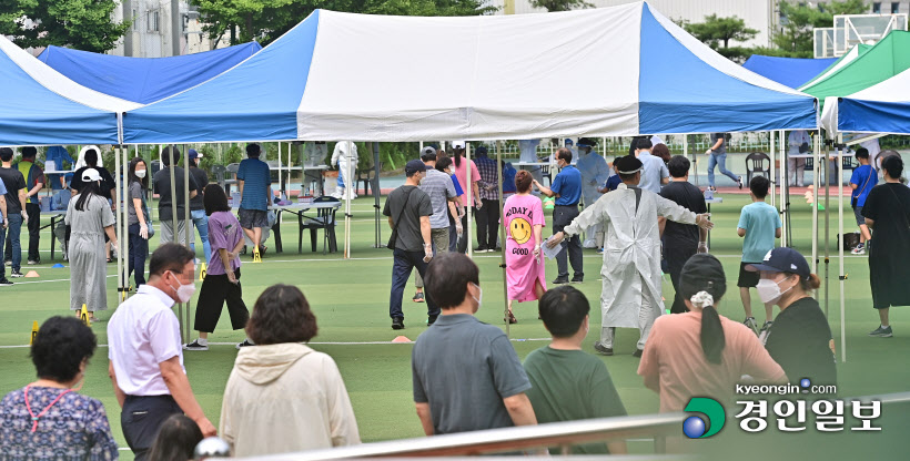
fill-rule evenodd
<path id="1" fill-rule="evenodd" d="M 204 437 L 215 434 L 196 401 L 186 371 L 174 303 L 193 296 L 195 255 L 164 244 L 149 263 L 149 281 L 118 307 L 108 324 L 108 373 L 123 409 L 120 423 L 127 443 L 143 461 L 158 430 L 171 414 L 185 413 Z"/>

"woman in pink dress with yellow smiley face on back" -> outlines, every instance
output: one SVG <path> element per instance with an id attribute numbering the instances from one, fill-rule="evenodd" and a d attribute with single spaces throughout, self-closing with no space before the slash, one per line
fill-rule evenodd
<path id="1" fill-rule="evenodd" d="M 540 198 L 530 194 L 533 177 L 526 171 L 515 174 L 515 195 L 503 206 L 506 226 L 506 286 L 509 324 L 517 324 L 512 303 L 540 299 L 547 290 L 546 265 L 540 255 L 543 228 L 546 225 Z"/>

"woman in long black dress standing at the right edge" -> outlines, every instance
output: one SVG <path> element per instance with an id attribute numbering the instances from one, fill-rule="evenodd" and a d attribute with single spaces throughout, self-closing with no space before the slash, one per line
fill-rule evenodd
<path id="1" fill-rule="evenodd" d="M 881 155 L 884 155 L 882 153 Z M 866 225 L 872 229 L 869 245 L 869 284 L 872 307 L 881 325 L 869 336 L 893 336 L 888 314 L 891 306 L 910 306 L 910 188 L 901 184 L 903 161 L 899 155 L 881 162 L 884 183 L 872 187 L 862 206 Z"/>

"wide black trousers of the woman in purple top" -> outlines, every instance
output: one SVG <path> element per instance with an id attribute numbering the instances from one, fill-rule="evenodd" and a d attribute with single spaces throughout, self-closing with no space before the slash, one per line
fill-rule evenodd
<path id="1" fill-rule="evenodd" d="M 221 310 L 228 304 L 228 313 L 231 315 L 231 327 L 240 330 L 246 327 L 250 319 L 250 311 L 243 303 L 243 290 L 240 287 L 240 269 L 234 272 L 237 284 L 228 280 L 228 275 L 205 275 L 202 280 L 202 289 L 196 301 L 196 319 L 193 328 L 196 331 L 212 332 L 215 330 L 218 319 L 221 318 Z"/>

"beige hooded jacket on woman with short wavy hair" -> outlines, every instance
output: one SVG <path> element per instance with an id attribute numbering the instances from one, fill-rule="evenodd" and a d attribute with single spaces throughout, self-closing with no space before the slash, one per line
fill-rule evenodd
<path id="1" fill-rule="evenodd" d="M 335 361 L 301 344 L 240 350 L 224 389 L 219 434 L 234 457 L 361 442 Z"/>

